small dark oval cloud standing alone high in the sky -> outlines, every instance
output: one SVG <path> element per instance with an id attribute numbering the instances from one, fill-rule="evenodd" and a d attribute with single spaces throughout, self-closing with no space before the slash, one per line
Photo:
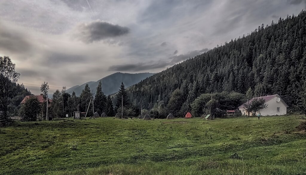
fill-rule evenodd
<path id="1" fill-rule="evenodd" d="M 106 38 L 113 38 L 128 34 L 130 29 L 120 25 L 110 24 L 105 21 L 93 21 L 90 23 L 80 24 L 77 28 L 77 37 L 86 43 L 100 41 Z"/>

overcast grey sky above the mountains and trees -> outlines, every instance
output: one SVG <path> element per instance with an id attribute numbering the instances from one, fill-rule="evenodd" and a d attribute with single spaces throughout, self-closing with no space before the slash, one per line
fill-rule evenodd
<path id="1" fill-rule="evenodd" d="M 306 0 L 0 0 L 0 56 L 32 93 L 157 73 L 297 15 Z M 38 89 L 38 90 L 35 90 Z"/>

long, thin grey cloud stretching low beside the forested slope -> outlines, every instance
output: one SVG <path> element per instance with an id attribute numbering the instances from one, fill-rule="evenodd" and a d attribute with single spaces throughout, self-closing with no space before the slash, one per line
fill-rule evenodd
<path id="1" fill-rule="evenodd" d="M 152 69 L 160 69 L 165 68 L 166 66 L 172 66 L 178 62 L 186 60 L 188 58 L 195 57 L 196 55 L 200 55 L 203 52 L 208 51 L 207 48 L 202 50 L 193 50 L 188 52 L 187 54 L 181 54 L 177 56 L 170 57 L 167 61 L 151 61 L 151 62 L 143 62 L 136 64 L 123 64 L 123 65 L 113 65 L 109 67 L 109 71 L 147 71 Z"/>

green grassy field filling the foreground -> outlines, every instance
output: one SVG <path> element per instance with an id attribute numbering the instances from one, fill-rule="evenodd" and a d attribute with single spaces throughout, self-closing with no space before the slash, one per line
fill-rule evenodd
<path id="1" fill-rule="evenodd" d="M 15 122 L 0 174 L 306 174 L 300 117 Z"/>

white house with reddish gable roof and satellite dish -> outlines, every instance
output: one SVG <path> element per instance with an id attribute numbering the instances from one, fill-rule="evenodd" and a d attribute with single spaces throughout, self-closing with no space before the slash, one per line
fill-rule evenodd
<path id="1" fill-rule="evenodd" d="M 268 116 L 268 115 L 285 115 L 287 114 L 287 107 L 289 107 L 284 100 L 279 95 L 269 95 L 264 97 L 256 97 L 252 98 L 248 102 L 252 102 L 254 99 L 264 99 L 266 104 L 268 105 L 267 108 L 261 109 L 258 111 L 261 116 Z M 246 103 L 248 103 L 246 102 Z M 244 103 L 245 104 L 245 103 Z M 248 115 L 248 112 L 244 109 L 244 104 L 239 106 L 239 110 L 243 115 Z M 258 114 L 256 113 L 256 114 Z M 250 114 L 252 115 L 252 114 Z"/>

